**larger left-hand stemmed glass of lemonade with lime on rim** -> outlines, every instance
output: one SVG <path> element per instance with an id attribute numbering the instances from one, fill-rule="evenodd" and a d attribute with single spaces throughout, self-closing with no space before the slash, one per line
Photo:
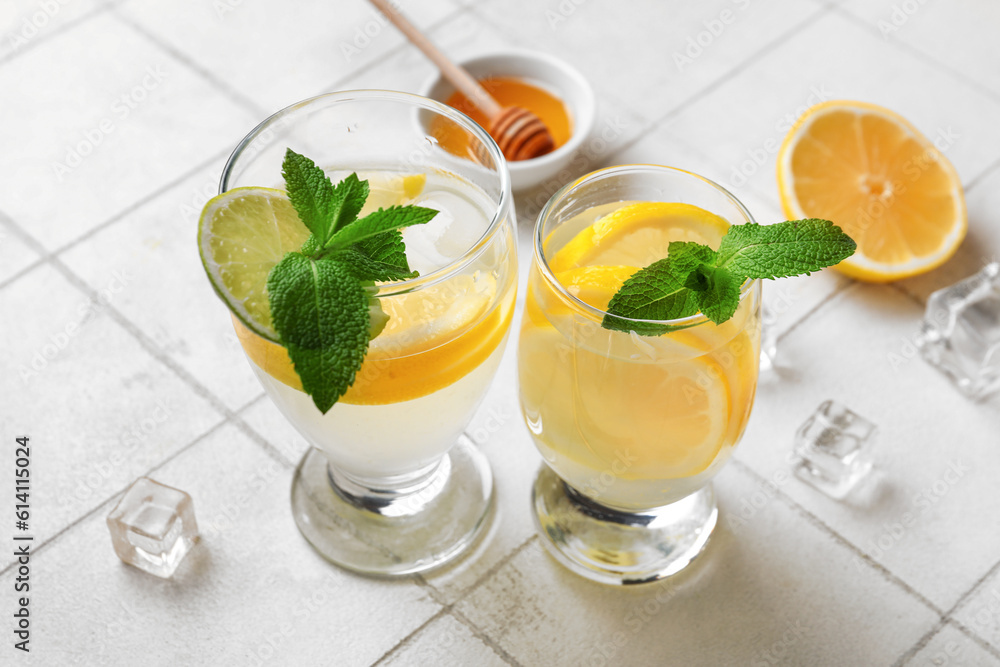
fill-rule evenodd
<path id="1" fill-rule="evenodd" d="M 432 123 L 467 135 L 474 151 L 459 157 L 441 149 L 428 132 Z M 420 276 L 378 285 L 389 323 L 326 414 L 302 391 L 287 351 L 233 320 L 267 395 L 312 445 L 292 482 L 302 534 L 348 569 L 426 570 L 469 547 L 492 506 L 488 463 L 460 436 L 500 362 L 514 305 L 517 255 L 503 156 L 482 128 L 432 100 L 339 92 L 261 123 L 230 158 L 221 191 L 282 188 L 286 148 L 334 182 L 351 172 L 368 179 L 362 216 L 396 204 L 439 211 L 403 230 Z"/>

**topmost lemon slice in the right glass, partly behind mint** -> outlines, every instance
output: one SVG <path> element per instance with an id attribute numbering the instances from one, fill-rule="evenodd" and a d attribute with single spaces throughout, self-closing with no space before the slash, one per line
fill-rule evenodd
<path id="1" fill-rule="evenodd" d="M 671 241 L 718 247 L 728 228 L 724 218 L 691 204 L 625 204 L 570 239 L 549 266 L 554 273 L 588 264 L 647 266 L 667 256 Z"/>

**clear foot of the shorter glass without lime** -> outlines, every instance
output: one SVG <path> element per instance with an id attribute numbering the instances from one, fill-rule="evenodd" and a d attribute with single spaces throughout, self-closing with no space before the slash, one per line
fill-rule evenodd
<path id="1" fill-rule="evenodd" d="M 542 543 L 573 572 L 641 584 L 683 570 L 702 552 L 719 510 L 712 486 L 655 510 L 623 512 L 582 496 L 543 465 L 532 491 Z"/>

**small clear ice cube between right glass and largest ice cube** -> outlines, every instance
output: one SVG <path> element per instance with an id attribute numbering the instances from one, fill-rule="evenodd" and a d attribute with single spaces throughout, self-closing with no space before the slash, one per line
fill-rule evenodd
<path id="1" fill-rule="evenodd" d="M 824 401 L 795 433 L 794 471 L 833 498 L 843 498 L 872 468 L 875 424 Z"/>

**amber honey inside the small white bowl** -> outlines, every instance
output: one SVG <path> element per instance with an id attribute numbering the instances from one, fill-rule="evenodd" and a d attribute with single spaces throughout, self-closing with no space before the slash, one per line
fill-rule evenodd
<path id="1" fill-rule="evenodd" d="M 489 77 L 480 79 L 479 84 L 500 106 L 522 107 L 538 116 L 552 134 L 555 148 L 565 144 L 572 136 L 573 122 L 569 110 L 562 100 L 547 90 L 513 77 Z M 458 109 L 485 128 L 490 126 L 490 119 L 461 92 L 454 92 L 445 100 L 445 104 Z M 431 125 L 434 138 L 450 153 L 469 155 L 469 134 L 455 123 L 442 121 L 441 118 L 435 119 Z"/>

